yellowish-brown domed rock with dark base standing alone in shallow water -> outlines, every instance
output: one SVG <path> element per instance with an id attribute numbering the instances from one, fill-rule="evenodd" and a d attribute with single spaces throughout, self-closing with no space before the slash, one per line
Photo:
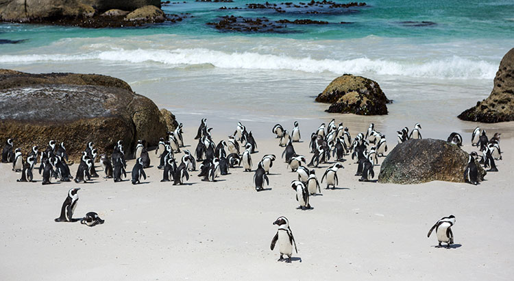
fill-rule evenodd
<path id="1" fill-rule="evenodd" d="M 359 115 L 387 114 L 386 104 L 391 102 L 377 82 L 350 74 L 330 82 L 323 93 L 317 96 L 316 101 L 332 103 L 327 112 Z"/>

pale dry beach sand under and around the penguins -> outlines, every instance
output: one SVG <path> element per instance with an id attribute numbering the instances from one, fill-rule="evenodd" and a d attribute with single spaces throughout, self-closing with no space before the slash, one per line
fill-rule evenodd
<path id="1" fill-rule="evenodd" d="M 186 148 L 191 151 L 196 129 L 186 127 L 186 144 L 191 145 Z M 366 126 L 353 129 L 364 131 Z M 306 138 L 313 130 L 302 129 L 304 142 L 295 144 L 308 160 Z M 217 132 L 213 138 L 217 143 L 229 133 Z M 469 136 L 464 138 L 470 151 Z M 396 140 L 392 135 L 388 140 L 392 149 Z M 347 157 L 338 188 L 322 188 L 323 195 L 311 197 L 312 210 L 297 210 L 290 187 L 297 174 L 280 159 L 278 139 L 269 132 L 256 135 L 256 141 L 254 169 L 264 154 L 278 156 L 269 176 L 271 190 L 259 193 L 252 184 L 254 173 L 242 168 L 230 169 L 218 182 L 201 182 L 193 172 L 186 185 L 162 183 L 154 151 L 154 167 L 146 169 L 149 178 L 135 186 L 128 179 L 114 184 L 101 171 L 101 178 L 88 184 L 18 183 L 20 173 L 1 164 L 0 280 L 513 279 L 509 134 L 502 135 L 500 172 L 488 173 L 478 186 L 362 183 L 354 176 L 356 164 Z M 128 172 L 133 164 L 128 161 Z M 319 180 L 326 167 L 317 169 Z M 71 166 L 73 175 L 76 169 L 77 164 Z M 375 171 L 378 176 L 380 167 Z M 103 225 L 53 221 L 73 186 L 82 188 L 74 217 L 95 211 L 106 220 Z M 436 248 L 434 234 L 426 237 L 446 215 L 456 216 L 452 249 Z M 291 264 L 277 262 L 278 249 L 269 249 L 277 231 L 272 223 L 279 216 L 289 219 L 297 241 L 299 252 Z"/>

